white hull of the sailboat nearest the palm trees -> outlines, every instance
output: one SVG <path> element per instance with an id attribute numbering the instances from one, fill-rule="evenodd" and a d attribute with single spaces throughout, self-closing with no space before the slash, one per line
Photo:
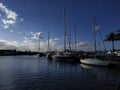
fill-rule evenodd
<path id="1" fill-rule="evenodd" d="M 109 61 L 102 61 L 99 59 L 83 59 L 80 60 L 82 64 L 87 64 L 87 65 L 96 65 L 96 66 L 108 66 L 110 64 Z"/>

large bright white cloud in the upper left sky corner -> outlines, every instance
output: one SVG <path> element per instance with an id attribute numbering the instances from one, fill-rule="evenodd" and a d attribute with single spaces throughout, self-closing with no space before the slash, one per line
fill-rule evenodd
<path id="1" fill-rule="evenodd" d="M 3 3 L 0 3 L 0 10 L 5 13 L 5 18 L 2 19 L 2 27 L 8 29 L 10 25 L 14 25 L 17 20 L 17 13 L 7 8 Z"/>

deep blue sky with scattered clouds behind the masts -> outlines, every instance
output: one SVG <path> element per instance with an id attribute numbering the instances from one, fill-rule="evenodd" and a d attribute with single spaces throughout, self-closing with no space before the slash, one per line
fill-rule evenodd
<path id="1" fill-rule="evenodd" d="M 40 37 L 41 51 L 46 51 L 50 32 L 51 50 L 63 50 L 64 8 L 72 49 L 76 26 L 77 49 L 93 50 L 93 16 L 103 39 L 120 29 L 119 0 L 0 0 L 0 49 L 38 51 Z M 98 34 L 97 43 L 103 50 Z M 105 44 L 111 49 L 110 42 Z"/>

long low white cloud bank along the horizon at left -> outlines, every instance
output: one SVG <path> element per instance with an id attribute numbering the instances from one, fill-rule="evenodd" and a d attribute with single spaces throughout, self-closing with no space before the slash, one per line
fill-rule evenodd
<path id="1" fill-rule="evenodd" d="M 60 45 L 57 45 L 58 38 L 50 39 L 50 49 L 55 50 L 58 49 Z M 33 42 L 32 39 L 28 37 L 24 37 L 23 42 L 18 43 L 17 41 L 8 41 L 0 39 L 0 49 L 10 49 L 10 50 L 31 50 L 31 51 L 38 51 L 39 43 Z M 48 42 L 40 42 L 40 51 L 47 51 Z M 60 49 L 61 50 L 61 49 Z"/>

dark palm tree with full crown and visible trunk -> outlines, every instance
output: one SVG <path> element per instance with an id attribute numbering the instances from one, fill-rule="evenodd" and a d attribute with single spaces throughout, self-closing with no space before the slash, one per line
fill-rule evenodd
<path id="1" fill-rule="evenodd" d="M 105 41 L 111 41 L 112 42 L 112 51 L 114 52 L 114 41 L 117 40 L 116 34 L 114 32 L 109 33 L 106 35 Z"/>

